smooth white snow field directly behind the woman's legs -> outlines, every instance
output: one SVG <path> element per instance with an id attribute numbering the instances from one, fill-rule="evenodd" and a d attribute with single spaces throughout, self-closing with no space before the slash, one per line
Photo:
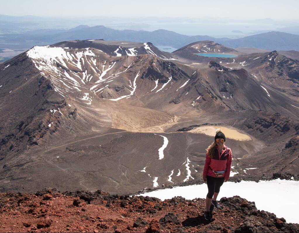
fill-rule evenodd
<path id="1" fill-rule="evenodd" d="M 221 197 L 238 195 L 248 201 L 254 201 L 257 209 L 269 211 L 277 217 L 284 217 L 288 223 L 299 223 L 297 210 L 299 201 L 299 182 L 295 180 L 269 180 L 256 183 L 255 181 L 241 181 L 240 183 L 225 182 L 219 192 Z M 160 189 L 141 194 L 141 196 L 157 197 L 161 200 L 182 196 L 186 199 L 205 198 L 208 193 L 206 184 Z M 292 198 L 292 207 L 288 204 Z"/>

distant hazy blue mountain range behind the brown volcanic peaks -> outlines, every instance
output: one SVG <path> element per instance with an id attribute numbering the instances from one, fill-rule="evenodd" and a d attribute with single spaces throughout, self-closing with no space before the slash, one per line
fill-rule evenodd
<path id="1" fill-rule="evenodd" d="M 80 25 L 68 30 L 33 30 L 25 33 L 8 33 L 2 43 L 33 45 L 52 44 L 68 40 L 104 39 L 132 42 L 152 42 L 154 45 L 169 45 L 180 48 L 193 42 L 210 40 L 228 47 L 256 47 L 267 50 L 299 50 L 299 35 L 283 32 L 267 32 L 239 39 L 214 38 L 211 36 L 187 36 L 168 30 L 135 31 L 115 30 L 103 25 L 89 27 Z M 8 46 L 8 45 L 7 45 Z"/>

